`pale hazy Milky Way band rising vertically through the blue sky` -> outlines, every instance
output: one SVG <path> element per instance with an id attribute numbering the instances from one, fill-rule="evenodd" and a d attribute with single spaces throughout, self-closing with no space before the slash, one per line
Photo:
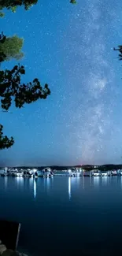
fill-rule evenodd
<path id="1" fill-rule="evenodd" d="M 81 143 L 82 160 L 86 163 L 87 160 L 98 162 L 98 158 L 101 158 L 101 155 L 103 157 L 105 135 L 110 124 L 110 113 L 113 110 L 113 102 L 105 99 L 105 93 L 110 92 L 110 88 L 107 91 L 108 87 L 113 86 L 113 65 L 109 64 L 109 53 L 105 50 L 107 9 L 105 13 L 102 8 L 103 4 L 100 1 L 87 2 L 83 13 L 82 43 L 78 40 L 78 49 L 82 54 L 81 58 L 84 59 L 83 69 L 80 72 L 85 69 L 82 86 L 86 90 L 84 100 L 86 111 L 83 121 L 82 116 L 80 117 L 83 127 L 79 131 L 79 142 Z M 83 102 L 79 111 L 82 106 Z"/>

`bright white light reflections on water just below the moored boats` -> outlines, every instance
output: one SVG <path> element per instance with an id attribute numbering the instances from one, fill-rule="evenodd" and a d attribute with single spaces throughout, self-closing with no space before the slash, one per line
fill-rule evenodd
<path id="1" fill-rule="evenodd" d="M 66 177 L 65 177 L 66 178 Z M 4 180 L 3 185 L 5 187 L 5 191 L 7 191 L 9 184 L 11 182 L 16 185 L 16 187 L 23 189 L 23 187 L 28 187 L 33 191 L 33 198 L 37 197 L 37 184 L 41 182 L 45 190 L 49 193 L 53 187 L 53 182 L 56 179 L 54 178 L 23 178 L 23 177 L 2 177 Z M 71 200 L 72 195 L 75 189 L 86 190 L 87 186 L 89 187 L 101 187 L 101 186 L 109 186 L 111 184 L 116 184 L 118 187 L 122 189 L 122 176 L 96 176 L 96 177 L 67 177 L 68 179 L 68 199 Z M 61 180 L 61 178 L 60 178 Z"/>

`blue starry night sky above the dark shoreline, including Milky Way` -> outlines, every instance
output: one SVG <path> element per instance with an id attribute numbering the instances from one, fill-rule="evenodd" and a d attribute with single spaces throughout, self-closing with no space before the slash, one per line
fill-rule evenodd
<path id="1" fill-rule="evenodd" d="M 6 11 L 7 36 L 24 38 L 24 82 L 38 77 L 51 95 L 0 113 L 15 144 L 1 165 L 82 165 L 122 162 L 120 0 L 39 0 L 29 11 Z M 18 61 L 4 62 L 12 69 Z"/>

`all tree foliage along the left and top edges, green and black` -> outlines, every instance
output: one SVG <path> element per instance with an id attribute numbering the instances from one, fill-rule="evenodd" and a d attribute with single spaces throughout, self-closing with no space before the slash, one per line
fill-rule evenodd
<path id="1" fill-rule="evenodd" d="M 3 9 L 11 9 L 16 12 L 17 6 L 24 6 L 28 10 L 35 5 L 38 0 L 0 0 L 0 17 L 4 17 Z M 76 4 L 76 0 L 70 0 L 70 3 Z M 19 39 L 17 35 L 12 38 L 6 38 L 6 35 L 0 35 L 0 63 L 8 61 L 11 58 L 20 59 L 23 53 L 20 51 L 23 46 L 23 39 Z M 39 80 L 35 78 L 33 82 L 27 84 L 20 83 L 20 76 L 25 74 L 24 66 L 15 65 L 12 70 L 6 69 L 0 71 L 0 98 L 2 109 L 9 109 L 14 102 L 17 108 L 21 108 L 25 103 L 30 104 L 38 99 L 45 99 L 50 95 L 50 89 L 47 84 L 44 88 Z M 2 132 L 3 126 L 0 124 L 0 150 L 13 146 L 14 139 L 10 139 Z"/>

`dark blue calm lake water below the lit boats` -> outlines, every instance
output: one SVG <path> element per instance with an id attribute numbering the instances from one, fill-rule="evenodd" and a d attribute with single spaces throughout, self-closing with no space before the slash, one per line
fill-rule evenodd
<path id="1" fill-rule="evenodd" d="M 31 256 L 122 254 L 122 177 L 0 177 L 0 203 Z"/>

